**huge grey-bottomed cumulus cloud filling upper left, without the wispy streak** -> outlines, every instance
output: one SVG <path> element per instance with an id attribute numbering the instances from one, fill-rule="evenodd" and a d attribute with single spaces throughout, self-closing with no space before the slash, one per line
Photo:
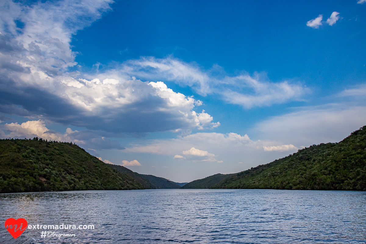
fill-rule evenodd
<path id="1" fill-rule="evenodd" d="M 69 72 L 76 65 L 70 41 L 111 8 L 112 1 L 2 1 L 0 5 L 0 112 L 45 118 L 121 136 L 214 128 L 202 101 L 161 82 L 139 80 L 120 69 Z M 24 23 L 19 29 L 15 20 Z M 205 118 L 203 118 L 203 117 Z M 201 123 L 202 121 L 202 123 Z"/>

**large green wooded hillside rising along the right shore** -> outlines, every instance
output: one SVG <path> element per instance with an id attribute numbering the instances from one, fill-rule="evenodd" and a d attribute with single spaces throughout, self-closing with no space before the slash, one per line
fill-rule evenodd
<path id="1" fill-rule="evenodd" d="M 365 191 L 366 126 L 339 143 L 310 146 L 210 188 Z"/>

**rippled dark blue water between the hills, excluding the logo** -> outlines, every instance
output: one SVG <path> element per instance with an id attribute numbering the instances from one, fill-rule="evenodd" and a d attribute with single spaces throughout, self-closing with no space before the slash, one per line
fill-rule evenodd
<path id="1" fill-rule="evenodd" d="M 16 240 L 7 218 L 28 224 Z M 366 243 L 366 192 L 137 190 L 0 194 L 0 243 Z M 45 230 L 47 231 L 47 230 Z M 51 230 L 48 230 L 51 231 Z M 53 232 L 52 231 L 52 232 Z"/>

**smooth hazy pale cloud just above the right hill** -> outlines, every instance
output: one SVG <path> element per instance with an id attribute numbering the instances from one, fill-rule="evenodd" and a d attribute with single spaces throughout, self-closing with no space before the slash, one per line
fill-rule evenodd
<path id="1" fill-rule="evenodd" d="M 297 147 L 339 142 L 366 125 L 365 106 L 328 104 L 297 108 L 297 112 L 274 116 L 258 123 L 251 133 Z M 264 146 L 272 146 L 266 143 Z"/>

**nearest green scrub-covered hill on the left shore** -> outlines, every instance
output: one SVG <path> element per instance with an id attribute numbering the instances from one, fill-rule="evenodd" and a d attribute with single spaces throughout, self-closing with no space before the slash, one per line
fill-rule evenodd
<path id="1" fill-rule="evenodd" d="M 143 189 L 81 147 L 42 139 L 0 139 L 0 193 Z"/>

